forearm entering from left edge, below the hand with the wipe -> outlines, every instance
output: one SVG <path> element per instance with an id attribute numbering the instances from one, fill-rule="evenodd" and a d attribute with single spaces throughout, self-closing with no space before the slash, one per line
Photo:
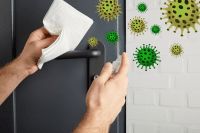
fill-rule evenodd
<path id="1" fill-rule="evenodd" d="M 26 67 L 19 59 L 0 69 L 0 105 L 27 76 Z"/>

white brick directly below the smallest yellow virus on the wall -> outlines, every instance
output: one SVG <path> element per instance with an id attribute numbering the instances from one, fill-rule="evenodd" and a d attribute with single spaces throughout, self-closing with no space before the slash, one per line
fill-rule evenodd
<path id="1" fill-rule="evenodd" d="M 184 72 L 186 63 L 182 58 L 174 58 L 169 55 L 162 57 L 160 64 L 161 72 L 164 73 L 180 73 Z"/>

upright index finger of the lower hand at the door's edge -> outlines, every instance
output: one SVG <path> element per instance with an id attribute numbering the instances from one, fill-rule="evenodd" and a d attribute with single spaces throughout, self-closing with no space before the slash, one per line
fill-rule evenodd
<path id="1" fill-rule="evenodd" d="M 127 74 L 128 74 L 128 57 L 126 53 L 123 53 L 121 59 L 121 66 L 116 76 L 121 76 L 121 75 L 126 76 Z"/>

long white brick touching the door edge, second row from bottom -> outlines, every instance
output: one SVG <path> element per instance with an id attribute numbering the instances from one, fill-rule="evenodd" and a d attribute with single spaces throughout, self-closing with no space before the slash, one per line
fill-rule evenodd
<path id="1" fill-rule="evenodd" d="M 159 107 L 132 106 L 127 108 L 127 120 L 167 122 L 169 121 L 168 111 Z"/>

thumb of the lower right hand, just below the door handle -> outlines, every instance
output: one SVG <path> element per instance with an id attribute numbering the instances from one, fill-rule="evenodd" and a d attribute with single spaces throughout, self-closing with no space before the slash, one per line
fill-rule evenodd
<path id="1" fill-rule="evenodd" d="M 101 70 L 99 79 L 102 80 L 102 82 L 106 82 L 107 80 L 109 80 L 109 78 L 111 77 L 113 72 L 113 66 L 111 63 L 106 63 L 103 67 L 103 69 Z"/>

